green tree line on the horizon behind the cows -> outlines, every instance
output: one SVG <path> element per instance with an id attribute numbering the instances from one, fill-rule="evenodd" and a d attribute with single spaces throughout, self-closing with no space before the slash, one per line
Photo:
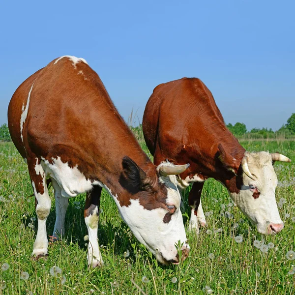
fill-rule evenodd
<path id="1" fill-rule="evenodd" d="M 250 131 L 247 131 L 246 125 L 240 122 L 236 122 L 235 125 L 229 123 L 226 126 L 236 137 L 245 137 L 249 139 L 284 137 L 288 139 L 290 137 L 294 137 L 295 135 L 295 113 L 293 113 L 291 117 L 287 120 L 287 123 L 277 131 L 273 131 L 271 128 L 252 128 Z M 134 132 L 137 139 L 144 139 L 142 124 L 136 127 L 130 126 L 129 124 L 129 127 Z M 0 126 L 0 141 L 11 141 L 8 126 L 6 123 Z"/>

